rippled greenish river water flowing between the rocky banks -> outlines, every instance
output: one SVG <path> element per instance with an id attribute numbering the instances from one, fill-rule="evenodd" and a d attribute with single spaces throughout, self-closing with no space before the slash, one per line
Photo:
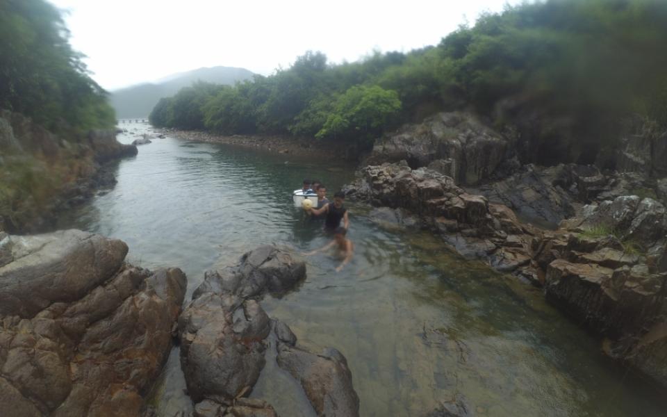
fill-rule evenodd
<path id="1" fill-rule="evenodd" d="M 352 171 L 335 161 L 154 139 L 118 164 L 115 188 L 60 226 L 121 238 L 129 260 L 147 268 L 179 266 L 189 299 L 204 270 L 258 245 L 298 252 L 325 245 L 320 225 L 295 211 L 290 193 L 304 177 L 318 177 L 331 194 Z M 352 263 L 336 273 L 336 259 L 309 257 L 299 290 L 263 306 L 299 343 L 345 354 L 362 416 L 421 416 L 456 395 L 476 416 L 664 416 L 664 400 L 605 359 L 600 343 L 538 290 L 464 261 L 430 234 L 375 224 L 367 207 L 350 208 Z M 192 409 L 178 353 L 151 400 L 163 416 Z M 302 391 L 272 361 L 252 396 L 283 417 L 311 416 Z"/>

